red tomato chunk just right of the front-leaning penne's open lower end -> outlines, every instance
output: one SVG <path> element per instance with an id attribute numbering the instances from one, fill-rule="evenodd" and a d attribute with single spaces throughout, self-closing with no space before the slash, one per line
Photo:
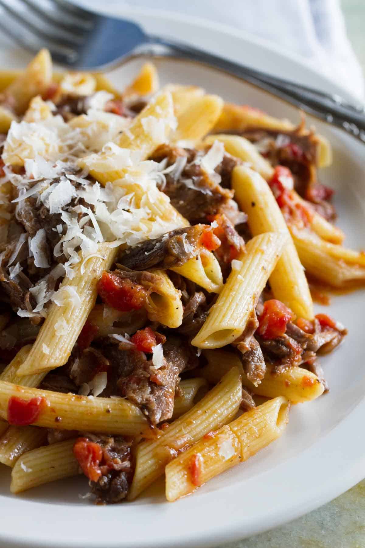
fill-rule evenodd
<path id="1" fill-rule="evenodd" d="M 286 332 L 286 324 L 292 319 L 293 312 L 277 299 L 264 302 L 264 310 L 258 318 L 257 333 L 263 339 L 276 339 Z"/>

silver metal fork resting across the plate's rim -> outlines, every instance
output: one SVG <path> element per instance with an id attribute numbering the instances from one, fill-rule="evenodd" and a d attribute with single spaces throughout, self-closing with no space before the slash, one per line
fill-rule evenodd
<path id="1" fill-rule="evenodd" d="M 240 77 L 365 142 L 365 111 L 329 94 L 271 76 L 187 44 L 149 36 L 133 21 L 99 15 L 66 0 L 0 0 L 0 28 L 34 52 L 48 47 L 53 59 L 73 69 L 101 70 L 137 55 L 202 62 Z"/>

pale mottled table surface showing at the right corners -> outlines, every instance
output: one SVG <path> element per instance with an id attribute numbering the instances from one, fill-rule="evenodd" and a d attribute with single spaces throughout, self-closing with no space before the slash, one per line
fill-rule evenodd
<path id="1" fill-rule="evenodd" d="M 365 0 L 341 0 L 347 33 L 365 73 Z M 285 526 L 220 548 L 364 548 L 365 479 Z"/>

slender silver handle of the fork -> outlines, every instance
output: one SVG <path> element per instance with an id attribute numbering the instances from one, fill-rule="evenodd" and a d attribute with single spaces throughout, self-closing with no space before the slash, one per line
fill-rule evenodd
<path id="1" fill-rule="evenodd" d="M 161 52 L 158 49 L 154 50 L 153 44 L 159 44 L 164 47 L 164 54 L 167 56 L 200 61 L 219 68 L 219 70 L 238 76 L 246 82 L 288 101 L 325 122 L 337 125 L 365 143 L 365 113 L 361 105 L 351 105 L 338 95 L 326 94 L 304 85 L 270 76 L 183 43 L 160 37 L 151 37 L 150 39 L 152 53 L 155 55 L 159 55 Z"/>

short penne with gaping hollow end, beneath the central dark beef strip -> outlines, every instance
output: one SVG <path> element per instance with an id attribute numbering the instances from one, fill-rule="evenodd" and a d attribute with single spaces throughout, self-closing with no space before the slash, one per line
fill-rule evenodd
<path id="1" fill-rule="evenodd" d="M 202 249 L 199 255 L 189 259 L 182 266 L 172 269 L 185 278 L 203 287 L 210 293 L 219 293 L 223 286 L 221 266 L 216 257 L 208 250 Z"/>

